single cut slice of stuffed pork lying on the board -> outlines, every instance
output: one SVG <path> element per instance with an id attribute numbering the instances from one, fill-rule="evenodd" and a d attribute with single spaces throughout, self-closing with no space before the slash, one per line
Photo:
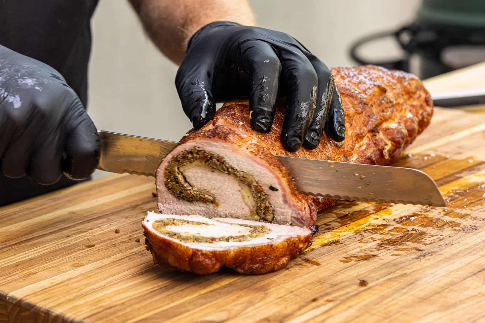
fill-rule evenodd
<path id="1" fill-rule="evenodd" d="M 154 212 L 148 212 L 143 227 L 155 263 L 196 274 L 222 266 L 242 274 L 273 272 L 301 254 L 313 233 L 259 221 Z"/>

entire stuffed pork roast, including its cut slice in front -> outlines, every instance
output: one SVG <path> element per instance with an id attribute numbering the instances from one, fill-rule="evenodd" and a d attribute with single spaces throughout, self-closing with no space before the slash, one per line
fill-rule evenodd
<path id="1" fill-rule="evenodd" d="M 246 101 L 227 102 L 182 138 L 157 170 L 162 214 L 143 222 L 156 263 L 197 274 L 223 265 L 244 274 L 284 267 L 311 244 L 306 227 L 314 229 L 317 212 L 334 201 L 298 192 L 275 154 L 389 165 L 429 124 L 433 103 L 418 78 L 375 66 L 332 74 L 345 111 L 342 143 L 325 137 L 314 150 L 289 153 L 280 143 L 284 109 L 261 134 L 251 130 Z"/>

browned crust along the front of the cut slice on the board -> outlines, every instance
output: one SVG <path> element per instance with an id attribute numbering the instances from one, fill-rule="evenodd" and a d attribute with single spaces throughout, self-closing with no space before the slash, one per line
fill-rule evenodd
<path id="1" fill-rule="evenodd" d="M 153 261 L 180 271 L 206 275 L 218 271 L 222 266 L 241 274 L 267 274 L 285 267 L 298 257 L 311 242 L 312 233 L 289 237 L 275 244 L 234 248 L 222 251 L 193 249 L 164 239 L 143 225 L 146 246 Z"/>

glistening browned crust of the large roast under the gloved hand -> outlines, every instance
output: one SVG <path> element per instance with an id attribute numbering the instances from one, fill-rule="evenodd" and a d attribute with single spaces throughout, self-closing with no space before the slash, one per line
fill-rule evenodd
<path id="1" fill-rule="evenodd" d="M 345 140 L 333 141 L 324 134 L 314 150 L 286 151 L 280 142 L 284 108 L 275 112 L 273 128 L 262 134 L 251 130 L 247 101 L 224 104 L 214 119 L 199 130 L 186 135 L 181 142 L 197 138 L 223 140 L 264 159 L 291 189 L 291 194 L 308 202 L 311 217 L 332 206 L 331 199 L 307 198 L 293 185 L 287 170 L 274 157 L 294 156 L 372 165 L 390 165 L 428 126 L 433 115 L 433 101 L 421 81 L 412 74 L 389 71 L 367 65 L 353 68 L 332 68 L 345 111 Z M 246 137 L 242 136 L 244 134 Z"/>

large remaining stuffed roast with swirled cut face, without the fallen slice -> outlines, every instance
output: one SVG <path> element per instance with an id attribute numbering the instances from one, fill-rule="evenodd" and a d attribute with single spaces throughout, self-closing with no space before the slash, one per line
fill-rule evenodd
<path id="1" fill-rule="evenodd" d="M 417 77 L 376 66 L 331 71 L 345 111 L 343 142 L 325 136 L 314 150 L 289 153 L 280 143 L 283 108 L 262 134 L 251 130 L 247 101 L 228 102 L 163 159 L 159 210 L 308 226 L 334 201 L 298 192 L 275 154 L 389 165 L 429 124 L 433 102 Z"/>

